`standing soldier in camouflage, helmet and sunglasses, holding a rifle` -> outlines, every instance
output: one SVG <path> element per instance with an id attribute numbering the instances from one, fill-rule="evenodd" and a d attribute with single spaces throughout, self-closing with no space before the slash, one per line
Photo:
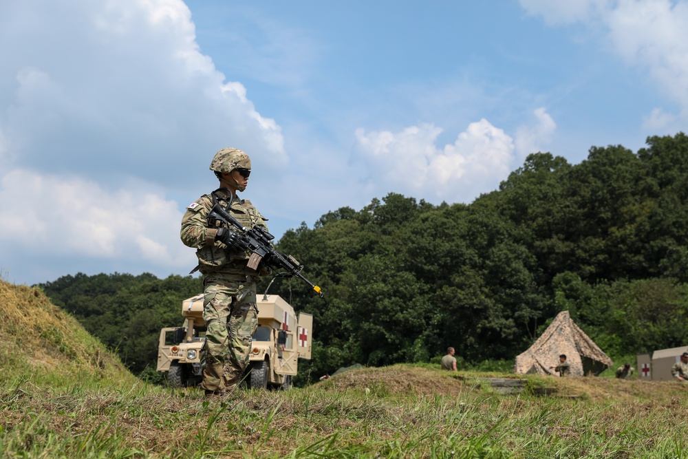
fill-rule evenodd
<path id="1" fill-rule="evenodd" d="M 207 331 L 201 387 L 206 396 L 224 394 L 241 381 L 248 365 L 251 335 L 258 326 L 256 284 L 261 274 L 266 274 L 246 266 L 250 257 L 246 236 L 222 222 L 209 221 L 208 214 L 219 203 L 241 225 L 259 225 L 268 230 L 267 219 L 249 200 L 237 196 L 248 185 L 248 155 L 239 149 L 224 148 L 215 153 L 210 169 L 220 187 L 189 204 L 180 233 L 186 246 L 197 249 L 195 270 L 203 274 Z"/>

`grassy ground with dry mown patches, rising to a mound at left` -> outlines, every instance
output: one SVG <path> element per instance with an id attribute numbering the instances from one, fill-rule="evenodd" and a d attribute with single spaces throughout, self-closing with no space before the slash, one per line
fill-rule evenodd
<path id="1" fill-rule="evenodd" d="M 3 458 L 688 456 L 676 382 L 528 376 L 502 394 L 487 378 L 515 375 L 394 365 L 208 401 L 138 381 L 39 290 L 0 281 L 0 306 Z"/>

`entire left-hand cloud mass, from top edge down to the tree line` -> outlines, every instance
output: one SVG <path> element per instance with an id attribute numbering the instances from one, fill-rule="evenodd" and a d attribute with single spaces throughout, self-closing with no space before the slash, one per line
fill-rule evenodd
<path id="1" fill-rule="evenodd" d="M 215 185 L 213 153 L 288 164 L 181 0 L 0 2 L 0 43 L 0 270 L 186 273 L 180 206 Z"/>

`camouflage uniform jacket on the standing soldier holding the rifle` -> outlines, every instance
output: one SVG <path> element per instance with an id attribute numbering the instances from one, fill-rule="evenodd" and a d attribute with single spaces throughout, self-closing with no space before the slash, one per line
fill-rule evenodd
<path id="1" fill-rule="evenodd" d="M 227 189 L 221 188 L 209 195 L 202 195 L 198 200 L 186 207 L 182 217 L 180 237 L 186 246 L 196 248 L 198 257 L 197 268 L 203 274 L 237 274 L 246 276 L 259 275 L 255 270 L 246 266 L 250 257 L 250 250 L 241 253 L 229 250 L 222 242 L 215 240 L 217 229 L 227 227 L 222 222 L 208 222 L 208 214 L 213 210 L 215 202 L 219 202 L 242 226 L 262 226 L 268 231 L 268 226 L 259 211 L 249 200 L 232 198 Z M 231 227 L 233 231 L 239 231 Z"/>

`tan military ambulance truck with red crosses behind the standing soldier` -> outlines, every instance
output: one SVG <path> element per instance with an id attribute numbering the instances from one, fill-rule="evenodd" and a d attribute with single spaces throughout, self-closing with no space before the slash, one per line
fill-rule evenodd
<path id="1" fill-rule="evenodd" d="M 278 295 L 257 298 L 258 328 L 253 334 L 246 383 L 250 387 L 289 389 L 299 359 L 310 359 L 313 316 L 299 313 Z M 203 294 L 182 301 L 184 325 L 160 330 L 158 371 L 168 372 L 174 387 L 202 380 L 201 350 L 205 340 Z"/>

